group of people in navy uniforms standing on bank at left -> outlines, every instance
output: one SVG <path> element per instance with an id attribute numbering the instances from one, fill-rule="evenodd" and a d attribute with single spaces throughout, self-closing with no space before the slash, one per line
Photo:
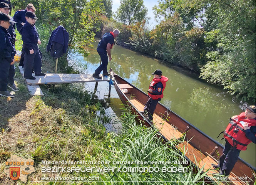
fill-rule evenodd
<path id="1" fill-rule="evenodd" d="M 24 67 L 24 78 L 34 80 L 33 71 L 35 76 L 45 76 L 41 72 L 42 53 L 37 45 L 40 45 L 41 41 L 35 27 L 38 19 L 35 15 L 35 7 L 30 3 L 25 10 L 15 12 L 13 18 L 9 15 L 11 9 L 10 1 L 0 0 L 0 96 L 5 97 L 15 97 L 7 87 L 13 91 L 19 91 L 13 79 L 15 41 L 17 41 L 15 23 L 23 41 L 20 66 Z"/>

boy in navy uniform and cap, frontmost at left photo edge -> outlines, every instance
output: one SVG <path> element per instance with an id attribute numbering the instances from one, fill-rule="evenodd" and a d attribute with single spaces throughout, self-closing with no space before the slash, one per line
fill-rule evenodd
<path id="1" fill-rule="evenodd" d="M 5 13 L 0 13 L 0 96 L 15 97 L 15 94 L 7 91 L 8 84 L 14 84 L 14 56 L 16 50 L 12 44 L 11 36 L 8 32 L 10 23 L 15 23 L 10 20 Z M 14 84 L 15 85 L 15 84 Z M 16 86 L 15 86 L 16 87 Z M 16 87 L 17 88 L 17 87 Z M 19 89 L 18 89 L 19 90 Z"/>

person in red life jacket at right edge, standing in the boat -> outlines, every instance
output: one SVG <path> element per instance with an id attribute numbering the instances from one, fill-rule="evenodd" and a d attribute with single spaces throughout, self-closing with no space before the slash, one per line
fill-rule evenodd
<path id="1" fill-rule="evenodd" d="M 224 131 L 224 139 L 223 155 L 219 158 L 219 164 L 213 167 L 221 170 L 220 175 L 228 176 L 241 150 L 246 150 L 251 142 L 256 144 L 256 106 L 246 106 L 245 112 L 231 117 Z"/>

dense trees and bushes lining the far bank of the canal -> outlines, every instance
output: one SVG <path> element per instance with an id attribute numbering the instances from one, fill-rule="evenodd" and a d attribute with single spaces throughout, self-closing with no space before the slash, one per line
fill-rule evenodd
<path id="1" fill-rule="evenodd" d="M 121 1 L 120 7 L 127 2 Z M 152 29 L 146 16 L 130 23 L 117 11 L 121 22 L 102 16 L 98 35 L 117 27 L 118 44 L 196 71 L 244 100 L 256 100 L 254 0 L 159 0 L 153 9 L 158 24 Z"/>

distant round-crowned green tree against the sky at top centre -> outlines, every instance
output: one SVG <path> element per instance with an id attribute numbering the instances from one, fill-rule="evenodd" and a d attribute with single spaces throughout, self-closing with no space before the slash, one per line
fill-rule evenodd
<path id="1" fill-rule="evenodd" d="M 127 25 L 147 19 L 147 8 L 143 0 L 121 0 L 116 13 L 117 19 Z"/>

